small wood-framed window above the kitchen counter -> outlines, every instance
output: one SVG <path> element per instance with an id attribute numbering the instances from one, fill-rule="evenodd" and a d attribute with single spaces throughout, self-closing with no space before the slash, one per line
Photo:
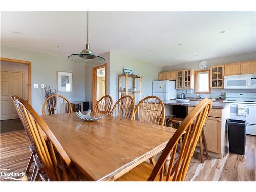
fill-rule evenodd
<path id="1" fill-rule="evenodd" d="M 210 93 L 210 70 L 195 71 L 196 93 Z"/>

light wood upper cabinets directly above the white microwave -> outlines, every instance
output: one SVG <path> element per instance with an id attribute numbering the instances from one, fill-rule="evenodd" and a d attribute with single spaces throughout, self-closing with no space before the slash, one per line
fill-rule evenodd
<path id="1" fill-rule="evenodd" d="M 256 73 L 256 61 L 237 62 L 225 65 L 225 75 Z"/>

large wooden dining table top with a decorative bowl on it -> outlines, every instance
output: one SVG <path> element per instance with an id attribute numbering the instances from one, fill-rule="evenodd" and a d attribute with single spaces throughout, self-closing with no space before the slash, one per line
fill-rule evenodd
<path id="1" fill-rule="evenodd" d="M 114 181 L 121 177 L 161 152 L 176 131 L 110 115 L 98 121 L 83 121 L 76 113 L 41 118 L 74 165 L 92 181 Z"/>

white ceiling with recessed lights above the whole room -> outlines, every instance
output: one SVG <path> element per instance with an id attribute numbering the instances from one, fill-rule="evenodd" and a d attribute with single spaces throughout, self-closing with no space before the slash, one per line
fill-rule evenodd
<path id="1" fill-rule="evenodd" d="M 86 12 L 1 12 L 3 45 L 67 57 L 85 42 Z M 89 43 L 158 66 L 253 52 L 256 12 L 89 12 Z"/>

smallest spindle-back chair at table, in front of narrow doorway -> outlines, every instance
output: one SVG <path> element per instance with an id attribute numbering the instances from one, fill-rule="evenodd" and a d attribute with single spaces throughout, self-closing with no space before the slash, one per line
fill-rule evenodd
<path id="1" fill-rule="evenodd" d="M 100 98 L 100 100 L 96 103 L 93 112 L 109 114 L 112 107 L 112 98 L 109 95 L 105 95 Z"/>

